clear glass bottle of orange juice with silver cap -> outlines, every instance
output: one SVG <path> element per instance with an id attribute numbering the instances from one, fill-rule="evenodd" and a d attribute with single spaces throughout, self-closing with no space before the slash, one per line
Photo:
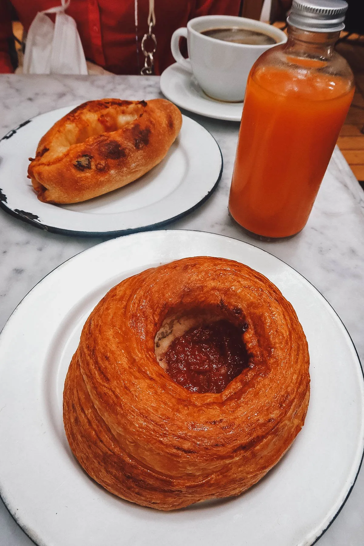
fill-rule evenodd
<path id="1" fill-rule="evenodd" d="M 334 45 L 343 0 L 294 0 L 288 41 L 250 70 L 229 211 L 260 238 L 305 227 L 354 95 L 354 77 Z"/>

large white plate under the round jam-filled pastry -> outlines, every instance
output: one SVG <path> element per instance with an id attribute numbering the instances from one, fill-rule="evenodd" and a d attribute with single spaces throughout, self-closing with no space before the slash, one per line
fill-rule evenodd
<path id="1" fill-rule="evenodd" d="M 305 426 L 244 494 L 175 512 L 118 498 L 68 447 L 62 391 L 88 314 L 123 278 L 187 256 L 238 260 L 293 304 L 311 358 Z M 133 234 L 60 265 L 21 302 L 0 336 L 0 493 L 41 546 L 308 546 L 354 485 L 363 453 L 363 376 L 335 311 L 299 273 L 241 241 L 184 230 Z"/>

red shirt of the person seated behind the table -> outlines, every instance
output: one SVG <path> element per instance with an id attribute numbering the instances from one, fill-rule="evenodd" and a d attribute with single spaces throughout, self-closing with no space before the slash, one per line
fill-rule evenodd
<path id="1" fill-rule="evenodd" d="M 178 27 L 200 15 L 238 15 L 241 0 L 155 0 L 157 51 L 154 69 L 161 74 L 174 63 L 171 36 Z M 11 0 L 19 20 L 28 31 L 37 11 L 61 4 L 59 0 Z M 115 74 L 139 74 L 144 66 L 141 40 L 147 32 L 148 0 L 138 0 L 138 32 L 135 29 L 134 0 L 71 0 L 66 13 L 77 23 L 87 60 Z M 54 16 L 53 16 L 54 20 Z M 0 72 L 13 72 L 8 54 L 11 20 L 0 0 Z M 138 42 L 136 41 L 138 35 Z M 139 55 L 137 51 L 137 44 Z"/>

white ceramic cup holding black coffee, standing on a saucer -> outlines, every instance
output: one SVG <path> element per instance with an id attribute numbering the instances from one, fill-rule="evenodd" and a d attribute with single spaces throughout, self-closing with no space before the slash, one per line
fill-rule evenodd
<path id="1" fill-rule="evenodd" d="M 236 44 L 201 34 L 212 28 L 231 27 L 262 32 L 277 43 Z M 180 51 L 181 37 L 187 38 L 188 59 Z M 240 102 L 244 98 L 247 78 L 255 61 L 264 51 L 285 41 L 287 36 L 284 32 L 260 21 L 230 15 L 205 15 L 191 19 L 187 28 L 177 28 L 172 34 L 171 50 L 177 63 L 194 74 L 208 96 L 226 102 Z"/>

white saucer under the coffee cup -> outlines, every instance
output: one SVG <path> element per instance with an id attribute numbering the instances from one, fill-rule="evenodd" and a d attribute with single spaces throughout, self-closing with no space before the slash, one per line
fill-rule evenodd
<path id="1" fill-rule="evenodd" d="M 193 75 L 183 70 L 177 63 L 171 64 L 160 76 L 160 91 L 177 106 L 213 117 L 216 120 L 241 120 L 243 103 L 225 103 L 208 97 Z"/>

